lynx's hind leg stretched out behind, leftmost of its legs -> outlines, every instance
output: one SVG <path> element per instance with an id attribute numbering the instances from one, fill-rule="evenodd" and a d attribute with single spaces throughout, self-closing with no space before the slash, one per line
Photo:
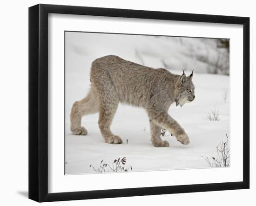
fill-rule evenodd
<path id="1" fill-rule="evenodd" d="M 70 113 L 71 132 L 75 135 L 86 135 L 87 130 L 81 126 L 82 116 L 99 112 L 99 106 L 99 98 L 93 89 L 84 99 L 74 102 Z"/>

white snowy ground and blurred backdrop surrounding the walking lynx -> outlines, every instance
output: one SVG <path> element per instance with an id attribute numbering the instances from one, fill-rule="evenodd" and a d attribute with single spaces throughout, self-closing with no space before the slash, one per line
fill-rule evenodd
<path id="1" fill-rule="evenodd" d="M 111 163 L 126 157 L 133 171 L 209 167 L 203 157 L 217 157 L 216 146 L 229 135 L 229 41 L 202 38 L 66 32 L 66 174 L 94 173 L 101 160 Z M 123 144 L 107 144 L 98 128 L 98 113 L 82 118 L 86 136 L 69 130 L 69 113 L 74 101 L 84 98 L 90 87 L 93 60 L 105 55 L 164 67 L 170 72 L 190 74 L 194 69 L 195 100 L 181 107 L 175 104 L 169 114 L 188 133 L 184 146 L 167 135 L 170 147 L 156 148 L 150 142 L 148 116 L 142 108 L 119 105 L 111 129 Z M 219 111 L 219 121 L 208 119 Z M 126 144 L 128 140 L 128 144 Z"/>

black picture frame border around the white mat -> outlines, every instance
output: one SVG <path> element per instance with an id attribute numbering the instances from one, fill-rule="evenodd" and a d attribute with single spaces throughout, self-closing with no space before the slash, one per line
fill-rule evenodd
<path id="1" fill-rule="evenodd" d="M 48 13 L 243 25 L 243 181 L 48 193 Z M 249 188 L 249 18 L 39 4 L 29 7 L 29 199 L 38 202 Z"/>

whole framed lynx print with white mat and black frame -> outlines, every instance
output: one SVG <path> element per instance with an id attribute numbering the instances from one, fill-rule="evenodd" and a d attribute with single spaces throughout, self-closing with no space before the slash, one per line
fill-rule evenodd
<path id="1" fill-rule="evenodd" d="M 29 8 L 29 198 L 249 188 L 249 18 Z"/>

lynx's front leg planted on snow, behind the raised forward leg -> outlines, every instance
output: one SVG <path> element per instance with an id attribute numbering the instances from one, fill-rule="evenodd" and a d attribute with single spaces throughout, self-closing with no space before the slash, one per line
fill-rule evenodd
<path id="1" fill-rule="evenodd" d="M 169 146 L 168 141 L 161 139 L 161 127 L 155 125 L 151 120 L 149 120 L 150 132 L 151 132 L 151 142 L 155 147 L 166 147 Z"/>

